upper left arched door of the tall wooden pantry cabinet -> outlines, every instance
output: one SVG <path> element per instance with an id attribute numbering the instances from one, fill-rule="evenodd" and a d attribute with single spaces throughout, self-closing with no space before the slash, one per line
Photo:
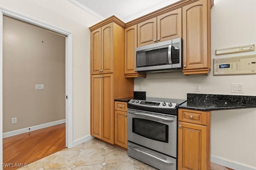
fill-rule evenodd
<path id="1" fill-rule="evenodd" d="M 91 73 L 100 74 L 101 70 L 101 28 L 91 32 Z"/>

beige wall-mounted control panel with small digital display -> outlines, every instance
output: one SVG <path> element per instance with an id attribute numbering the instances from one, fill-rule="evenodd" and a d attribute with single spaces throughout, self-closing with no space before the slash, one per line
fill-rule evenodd
<path id="1" fill-rule="evenodd" d="M 256 54 L 215 58 L 213 75 L 256 74 Z"/>

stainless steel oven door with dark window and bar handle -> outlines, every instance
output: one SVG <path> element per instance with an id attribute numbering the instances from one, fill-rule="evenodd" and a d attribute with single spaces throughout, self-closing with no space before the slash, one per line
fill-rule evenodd
<path id="1" fill-rule="evenodd" d="M 176 158 L 177 116 L 128 109 L 128 141 Z"/>

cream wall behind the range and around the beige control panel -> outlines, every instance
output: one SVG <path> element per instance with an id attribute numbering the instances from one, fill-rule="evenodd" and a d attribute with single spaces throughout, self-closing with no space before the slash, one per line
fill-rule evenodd
<path id="1" fill-rule="evenodd" d="M 218 58 L 216 49 L 256 44 L 255 0 L 214 0 L 211 15 L 212 63 Z M 201 92 L 194 92 L 195 83 L 201 84 Z M 244 83 L 240 95 L 256 96 L 256 74 L 213 76 L 213 65 L 208 76 L 162 73 L 135 78 L 134 90 L 142 84 L 148 97 L 178 99 L 186 99 L 187 93 L 238 95 L 231 93 L 231 83 Z M 211 145 L 212 155 L 256 168 L 256 109 L 212 111 Z"/>

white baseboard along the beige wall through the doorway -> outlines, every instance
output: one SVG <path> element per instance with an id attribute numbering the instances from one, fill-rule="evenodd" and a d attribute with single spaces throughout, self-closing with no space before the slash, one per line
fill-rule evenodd
<path id="1" fill-rule="evenodd" d="M 15 131 L 6 132 L 6 133 L 3 133 L 3 138 L 11 137 L 11 136 L 14 136 L 14 135 L 20 135 L 22 133 L 31 132 L 31 131 L 35 131 L 35 130 L 38 130 L 38 129 L 43 129 L 45 127 L 59 125 L 61 123 L 66 123 L 66 119 L 53 121 L 53 122 L 50 122 L 50 123 L 44 123 L 44 124 L 36 125 L 36 126 L 32 126 L 32 127 L 27 127 L 27 128 L 24 128 L 24 129 L 18 129 L 18 130 L 15 130 Z"/>

